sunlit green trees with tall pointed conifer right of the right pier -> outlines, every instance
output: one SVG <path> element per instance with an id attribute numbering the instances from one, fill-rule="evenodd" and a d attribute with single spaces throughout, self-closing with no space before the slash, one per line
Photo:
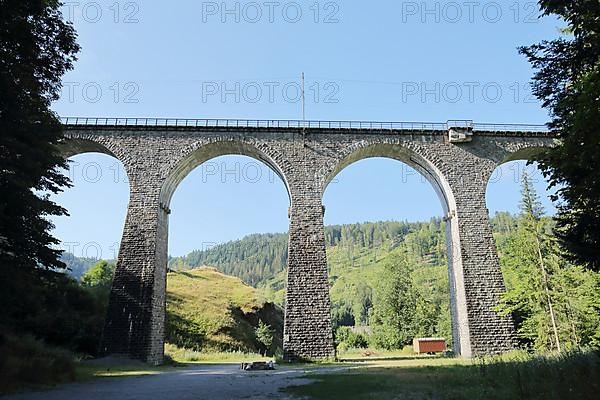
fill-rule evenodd
<path id="1" fill-rule="evenodd" d="M 513 315 L 526 347 L 560 351 L 598 346 L 599 274 L 563 257 L 552 225 L 525 175 L 517 230 L 502 248 L 508 290 L 498 310 Z"/>

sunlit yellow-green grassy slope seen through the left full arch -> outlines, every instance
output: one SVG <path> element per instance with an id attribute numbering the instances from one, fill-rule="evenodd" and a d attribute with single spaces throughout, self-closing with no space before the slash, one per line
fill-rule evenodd
<path id="1" fill-rule="evenodd" d="M 240 279 L 213 268 L 172 272 L 167 277 L 167 340 L 194 350 L 258 351 L 259 319 L 280 330 L 282 310 L 266 303 Z M 280 346 L 282 334 L 274 334 Z"/>

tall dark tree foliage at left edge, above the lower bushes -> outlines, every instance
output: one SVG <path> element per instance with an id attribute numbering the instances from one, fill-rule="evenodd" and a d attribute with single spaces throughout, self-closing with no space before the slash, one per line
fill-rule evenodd
<path id="1" fill-rule="evenodd" d="M 0 13 L 0 264 L 63 268 L 50 215 L 66 210 L 40 192 L 68 186 L 50 110 L 79 46 L 56 0 L 2 2 Z"/>

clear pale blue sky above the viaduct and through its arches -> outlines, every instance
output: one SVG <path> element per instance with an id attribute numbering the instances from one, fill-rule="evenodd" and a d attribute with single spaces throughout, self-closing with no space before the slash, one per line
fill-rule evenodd
<path id="1" fill-rule="evenodd" d="M 516 48 L 556 36 L 560 23 L 538 20 L 534 2 L 174 3 L 67 2 L 82 52 L 54 109 L 62 116 L 299 119 L 304 72 L 308 119 L 547 120 Z M 112 258 L 128 199 L 122 166 L 95 154 L 73 161 L 75 186 L 57 197 L 71 217 L 55 221 L 55 234 L 76 255 Z M 285 189 L 265 166 L 234 156 L 210 163 L 175 193 L 171 254 L 287 229 Z M 493 178 L 492 212 L 516 210 L 523 168 L 505 165 Z M 221 176 L 231 169 L 237 175 Z M 324 204 L 328 224 L 442 213 L 428 183 L 384 159 L 342 171 Z"/>

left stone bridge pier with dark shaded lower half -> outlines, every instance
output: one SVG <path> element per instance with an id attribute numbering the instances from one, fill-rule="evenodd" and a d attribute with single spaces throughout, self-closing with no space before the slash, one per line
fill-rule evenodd
<path id="1" fill-rule="evenodd" d="M 158 190 L 132 186 L 101 354 L 163 362 L 167 234 Z"/>

